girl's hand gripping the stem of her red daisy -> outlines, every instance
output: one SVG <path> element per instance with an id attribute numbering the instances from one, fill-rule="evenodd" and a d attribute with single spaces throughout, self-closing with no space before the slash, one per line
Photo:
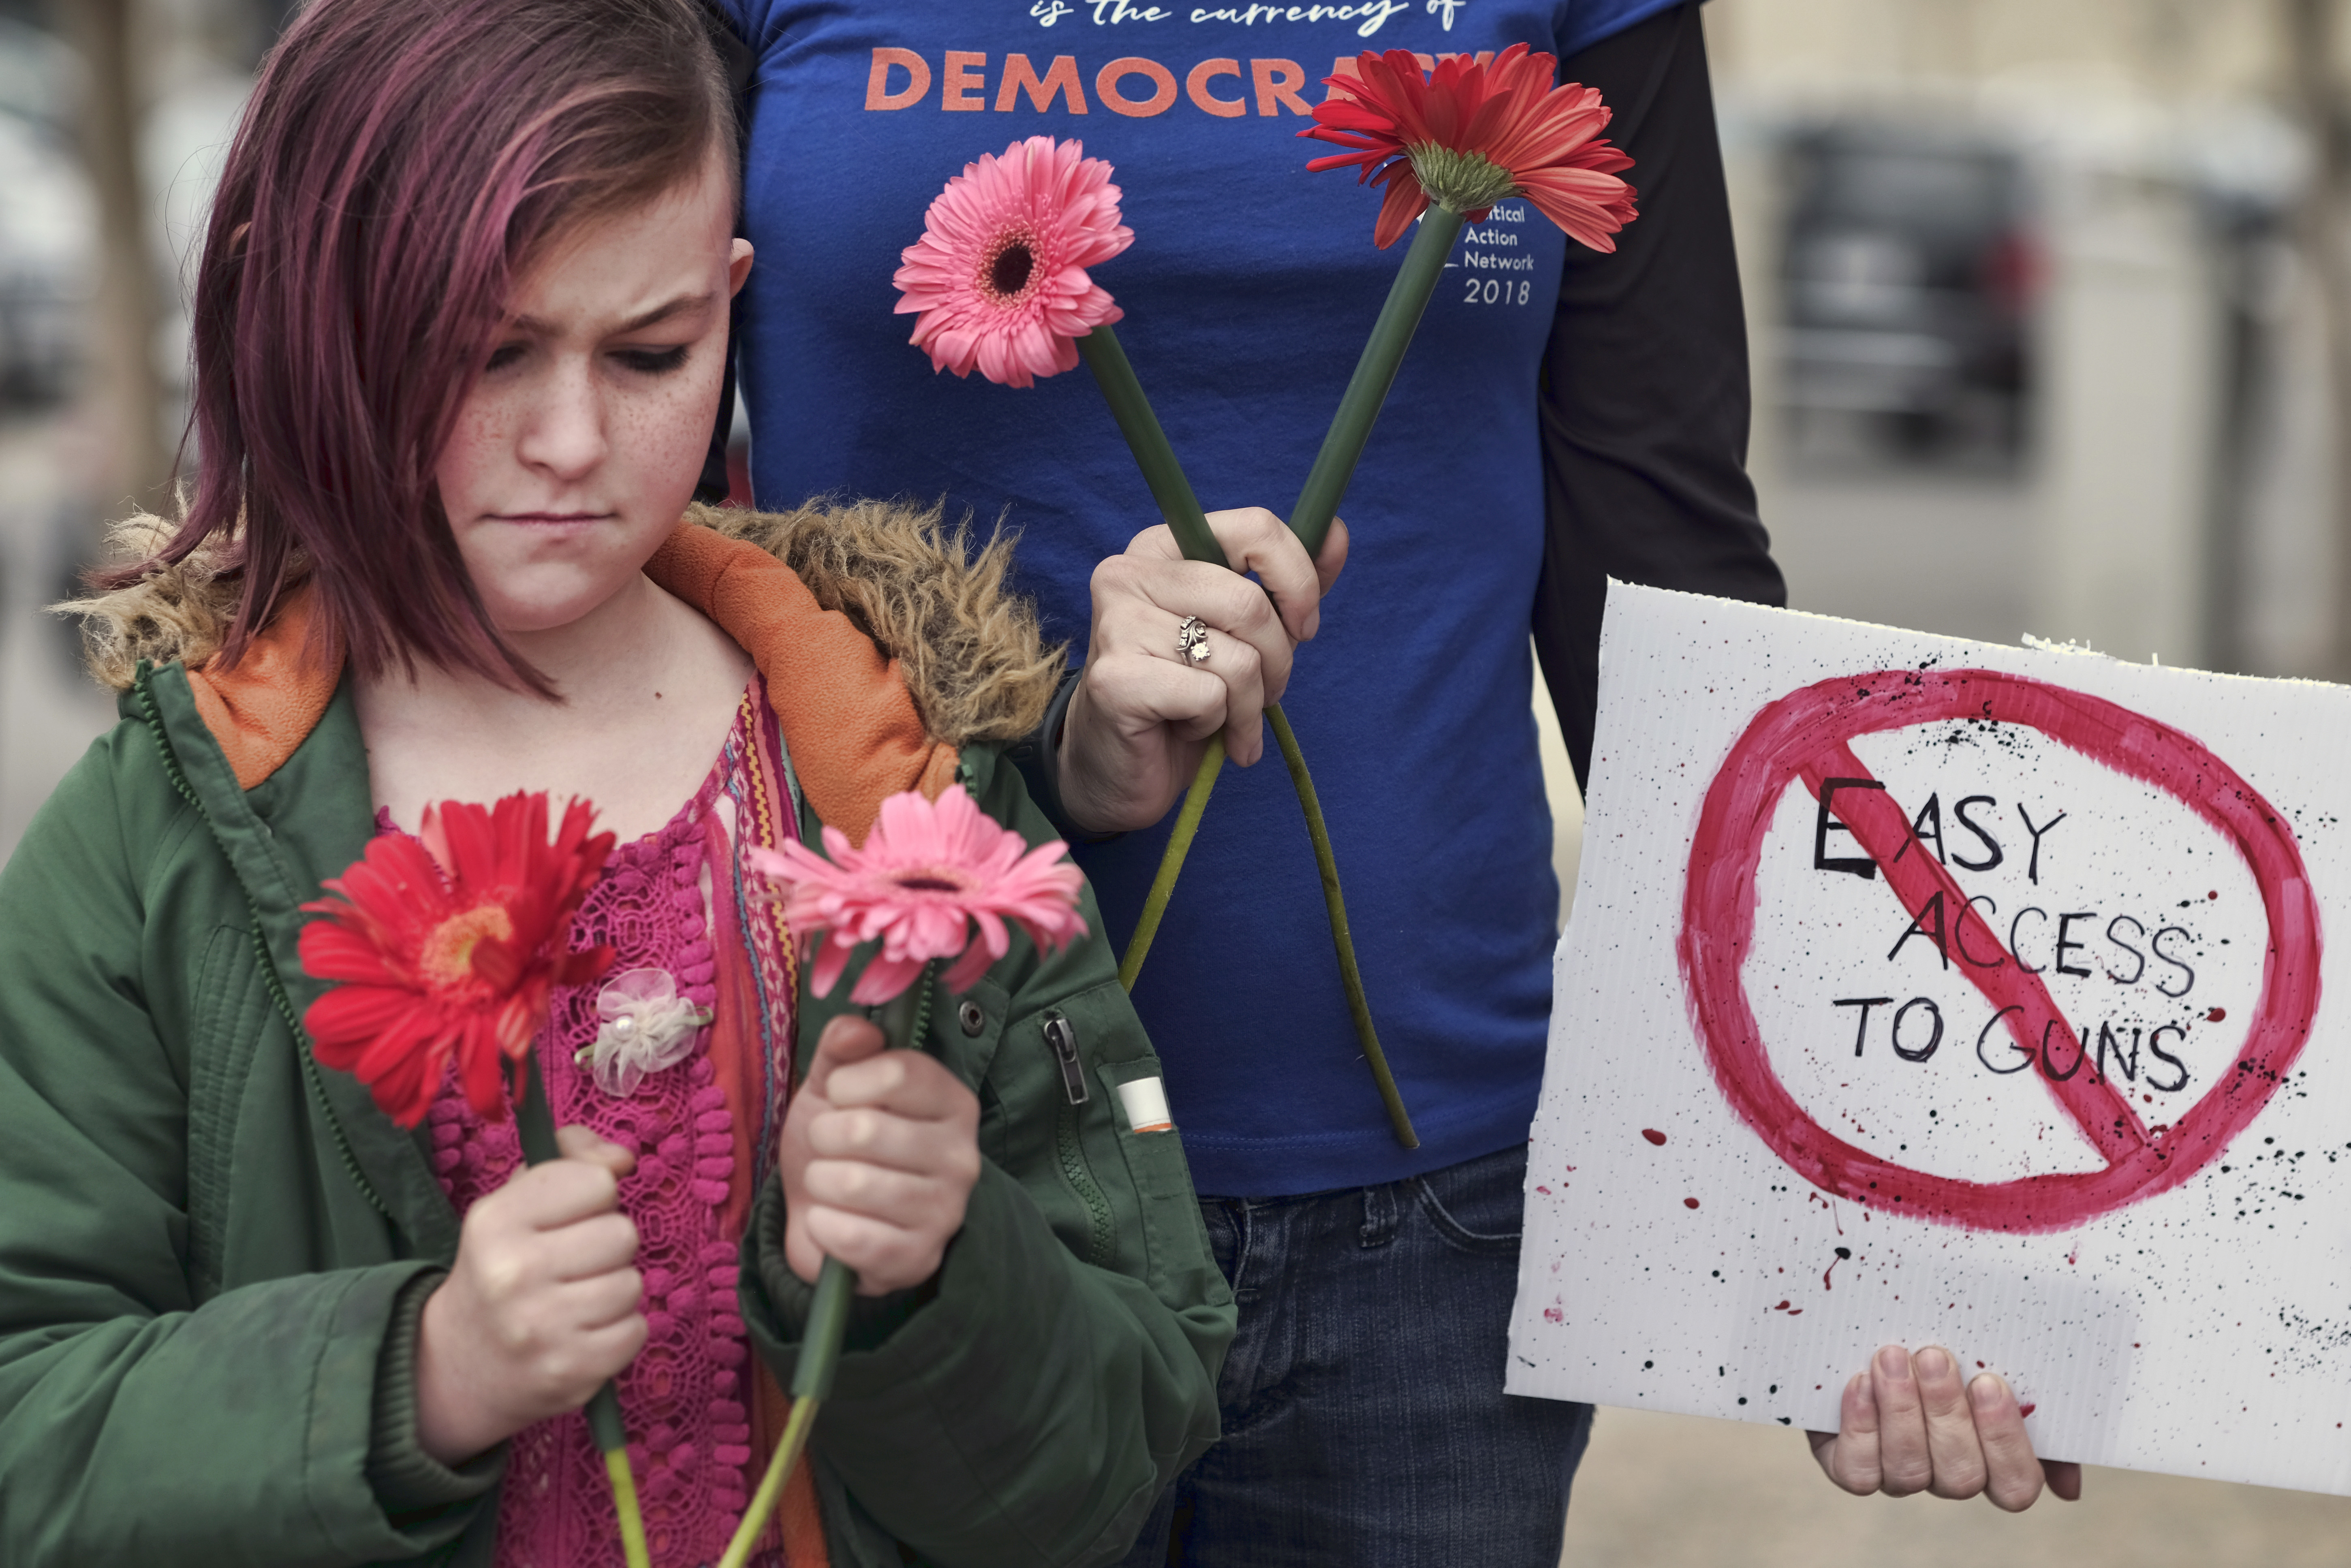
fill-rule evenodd
<path id="1" fill-rule="evenodd" d="M 416 1436 L 461 1465 L 531 1422 L 578 1410 L 644 1347 L 635 1157 L 585 1126 L 562 1159 L 517 1171 L 465 1211 L 456 1267 L 416 1331 Z"/>

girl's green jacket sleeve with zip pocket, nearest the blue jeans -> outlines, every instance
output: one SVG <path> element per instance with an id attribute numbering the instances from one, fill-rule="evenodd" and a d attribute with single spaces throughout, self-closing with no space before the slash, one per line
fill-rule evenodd
<path id="1" fill-rule="evenodd" d="M 980 748 L 964 759 L 990 816 L 1051 837 L 1011 766 Z M 1091 938 L 1039 959 L 1013 936 L 971 992 L 933 999 L 926 1048 L 978 1091 L 980 1175 L 938 1274 L 858 1300 L 816 1425 L 820 1488 L 837 1481 L 858 1514 L 957 1568 L 1119 1559 L 1218 1432 L 1232 1293 L 1176 1133 L 1124 1128 L 1117 1084 L 1159 1063 L 1091 893 L 1084 917 Z M 802 1060 L 846 992 L 804 1004 Z M 771 1180 L 745 1237 L 743 1305 L 788 1385 L 811 1291 L 785 1260 L 785 1222 Z"/>

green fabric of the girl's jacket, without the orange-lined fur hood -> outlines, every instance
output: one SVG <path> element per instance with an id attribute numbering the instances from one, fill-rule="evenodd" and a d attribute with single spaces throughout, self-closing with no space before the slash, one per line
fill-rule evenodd
<path id="1" fill-rule="evenodd" d="M 374 830 L 348 682 L 252 788 L 183 665 L 141 663 L 120 710 L 0 872 L 0 1563 L 487 1566 L 503 1450 L 451 1472 L 414 1436 L 458 1218 L 296 1027 L 299 905 Z M 947 757 L 1051 837 L 990 745 Z M 1084 914 L 1051 959 L 1016 938 L 976 1034 L 931 1009 L 985 1168 L 936 1281 L 851 1328 L 811 1448 L 837 1566 L 1117 1559 L 1215 1439 L 1232 1295 L 1180 1145 L 1117 1112 L 1159 1065 Z M 804 1048 L 830 1011 L 802 1009 Z M 769 1180 L 743 1309 L 790 1380 L 809 1291 L 781 1234 Z"/>

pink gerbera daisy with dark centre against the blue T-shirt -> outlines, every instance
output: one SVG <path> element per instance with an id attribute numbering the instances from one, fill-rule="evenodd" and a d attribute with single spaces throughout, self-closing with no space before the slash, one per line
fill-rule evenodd
<path id="1" fill-rule="evenodd" d="M 891 280 L 933 369 L 1030 386 L 1077 364 L 1074 339 L 1119 320 L 1086 268 L 1136 230 L 1119 223 L 1110 165 L 1077 141 L 1030 136 L 947 181 Z"/>

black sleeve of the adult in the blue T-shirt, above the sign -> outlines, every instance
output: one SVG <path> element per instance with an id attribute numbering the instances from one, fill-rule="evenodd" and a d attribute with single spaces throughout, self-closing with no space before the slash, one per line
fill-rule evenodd
<path id="1" fill-rule="evenodd" d="M 1747 320 L 1697 5 L 1559 66 L 1615 110 L 1641 216 L 1568 244 L 1542 367 L 1535 651 L 1578 783 L 1592 771 L 1608 578 L 1784 604 L 1747 480 Z"/>

